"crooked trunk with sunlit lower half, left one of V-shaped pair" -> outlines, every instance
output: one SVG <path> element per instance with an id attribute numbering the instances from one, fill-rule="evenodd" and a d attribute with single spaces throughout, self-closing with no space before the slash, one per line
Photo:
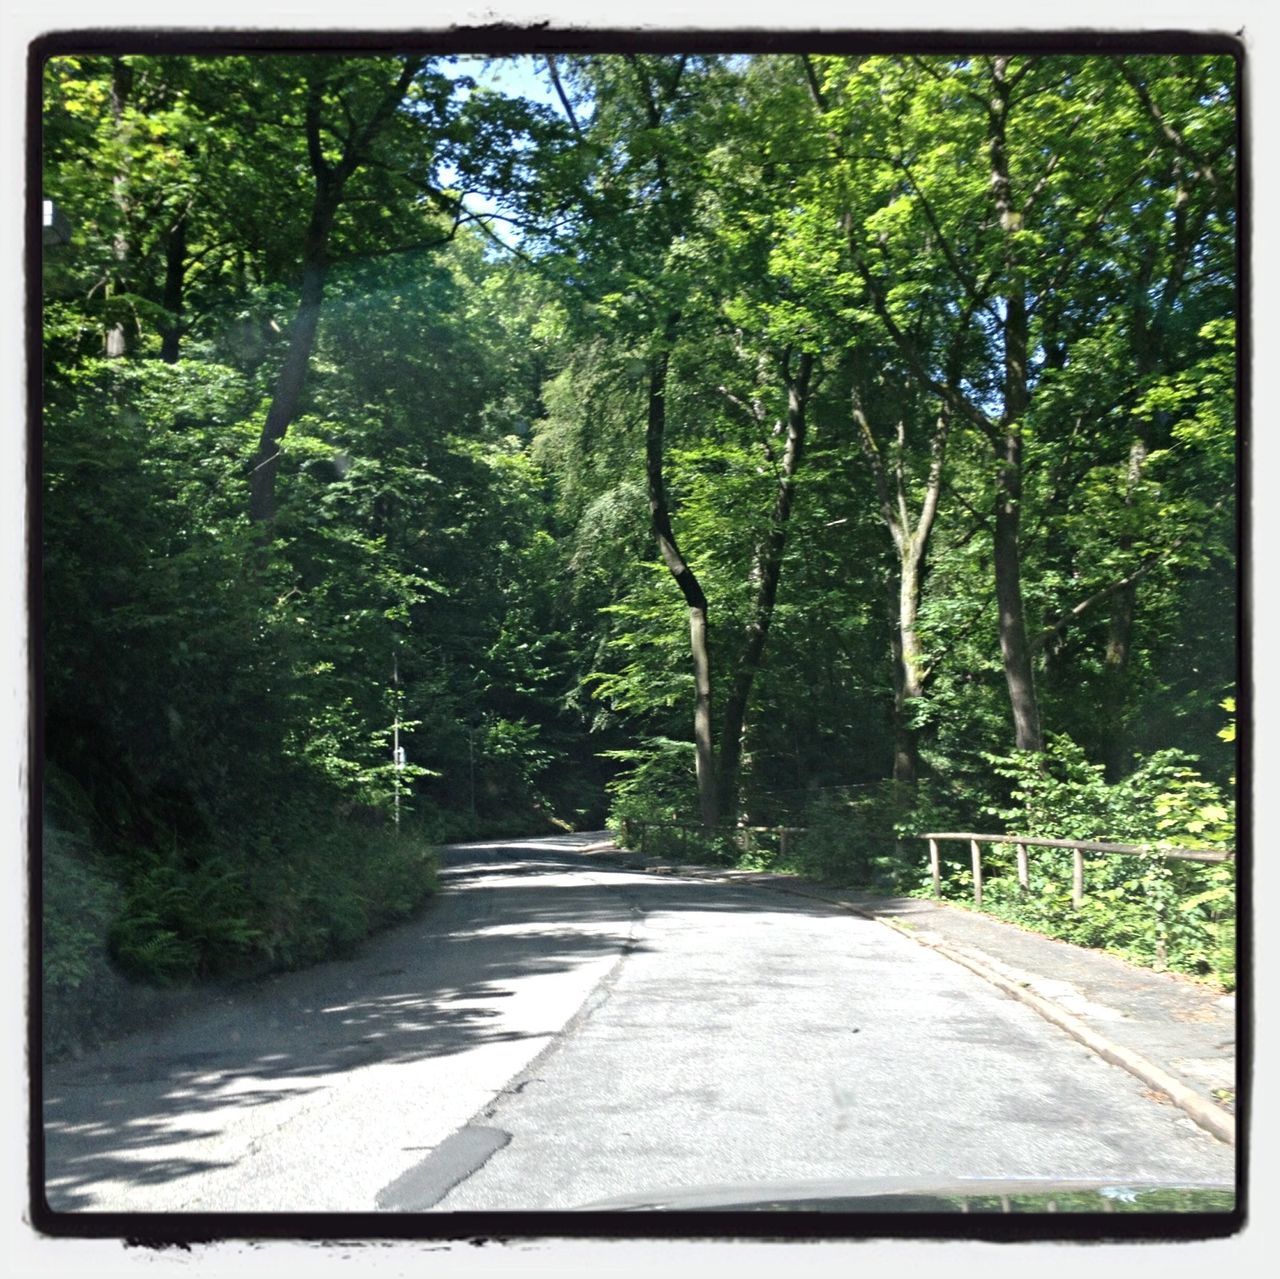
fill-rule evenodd
<path id="1" fill-rule="evenodd" d="M 719 822 L 719 795 L 716 785 L 716 749 L 712 740 L 712 661 L 707 634 L 707 594 L 689 567 L 671 527 L 671 508 L 663 476 L 667 433 L 667 367 L 671 343 L 680 326 L 680 315 L 667 318 L 663 347 L 649 364 L 649 414 L 645 430 L 645 469 L 649 488 L 649 520 L 663 563 L 680 588 L 689 608 L 689 650 L 694 659 L 694 749 L 698 775 L 698 801 L 703 826 Z"/>

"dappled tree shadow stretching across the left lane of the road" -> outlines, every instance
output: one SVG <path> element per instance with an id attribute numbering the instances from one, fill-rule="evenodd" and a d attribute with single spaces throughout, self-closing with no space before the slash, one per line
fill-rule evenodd
<path id="1" fill-rule="evenodd" d="M 509 1014 L 521 983 L 643 949 L 634 926 L 644 914 L 831 913 L 823 903 L 643 876 L 572 851 L 541 842 L 449 850 L 442 896 L 352 959 L 205 992 L 204 1006 L 161 1029 L 46 1069 L 50 1207 L 110 1209 L 104 1182 L 145 1187 L 229 1166 L 234 1160 L 211 1152 L 237 1114 L 287 1110 L 323 1091 L 326 1077 L 545 1038 L 561 1027 Z M 571 878 L 582 871 L 590 880 Z"/>

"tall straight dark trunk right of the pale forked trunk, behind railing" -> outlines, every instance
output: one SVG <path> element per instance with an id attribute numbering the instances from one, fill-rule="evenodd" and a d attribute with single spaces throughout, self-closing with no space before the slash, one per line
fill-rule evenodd
<path id="1" fill-rule="evenodd" d="M 1004 435 L 998 449 L 996 475 L 996 606 L 1000 612 L 1000 652 L 1005 663 L 1005 684 L 1014 717 L 1014 744 L 1019 750 L 1042 750 L 1039 700 L 1032 668 L 1030 644 L 1027 638 L 1027 616 L 1023 609 L 1021 548 L 1019 540 L 1023 499 L 1023 428 L 1030 405 L 1028 383 L 1028 319 L 1020 253 L 1016 243 L 1021 214 L 1014 209 L 1009 178 L 1009 152 L 1005 125 L 1009 118 L 1011 87 L 1009 59 L 992 63 L 993 96 L 989 104 L 988 151 L 991 156 L 991 191 L 1005 236 L 1004 293 L 1004 414 L 1000 428 Z"/>

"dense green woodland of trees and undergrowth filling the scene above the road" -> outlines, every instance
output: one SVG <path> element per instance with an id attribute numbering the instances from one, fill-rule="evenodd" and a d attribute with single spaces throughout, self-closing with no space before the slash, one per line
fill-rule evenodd
<path id="1" fill-rule="evenodd" d="M 47 64 L 50 1009 L 467 835 L 1230 844 L 1231 61 L 522 65 Z M 1229 973 L 1229 872 L 1059 871 L 992 909 Z"/>

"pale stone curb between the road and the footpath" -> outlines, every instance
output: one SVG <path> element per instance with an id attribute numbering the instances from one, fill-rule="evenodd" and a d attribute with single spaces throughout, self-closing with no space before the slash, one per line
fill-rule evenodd
<path id="1" fill-rule="evenodd" d="M 646 867 L 645 869 L 653 868 Z M 746 878 L 750 873 L 751 872 L 746 872 L 746 874 L 741 878 Z M 739 880 L 739 876 L 724 874 L 723 872 L 719 874 L 713 872 L 710 877 L 719 878 L 726 883 Z M 997 990 L 1004 991 L 1012 999 L 1016 999 L 1028 1008 L 1034 1009 L 1041 1017 L 1044 1018 L 1044 1020 L 1051 1022 L 1059 1029 L 1065 1031 L 1073 1040 L 1078 1043 L 1083 1043 L 1091 1052 L 1096 1052 L 1103 1061 L 1110 1061 L 1112 1065 L 1117 1065 L 1123 1070 L 1128 1070 L 1129 1074 L 1140 1079 L 1148 1088 L 1162 1092 L 1189 1119 L 1203 1128 L 1204 1132 L 1216 1137 L 1219 1141 L 1226 1142 L 1229 1146 L 1235 1145 L 1235 1116 L 1233 1114 L 1224 1110 L 1221 1106 L 1213 1105 L 1212 1101 L 1206 1101 L 1198 1092 L 1183 1083 L 1181 1079 L 1176 1079 L 1167 1070 L 1156 1065 L 1155 1061 L 1142 1056 L 1140 1052 L 1134 1052 L 1132 1049 L 1126 1049 L 1123 1045 L 1116 1043 L 1114 1040 L 1108 1040 L 1105 1034 L 1100 1034 L 1091 1026 L 1080 1020 L 1080 1018 L 1078 1018 L 1074 1013 L 1069 1013 L 1060 1004 L 1055 1004 L 1052 1000 L 1046 999 L 1043 995 L 1037 995 L 1034 991 L 1028 990 L 1019 982 L 1001 976 L 980 960 L 952 950 L 943 942 L 929 941 L 925 937 L 920 937 L 911 928 L 904 928 L 896 921 L 884 919 L 881 915 L 877 915 L 873 910 L 865 910 L 860 906 L 851 905 L 847 901 L 841 901 L 837 897 L 829 897 L 822 892 L 808 892 L 799 885 L 790 886 L 774 881 L 772 883 L 758 882 L 756 886 L 762 889 L 773 889 L 778 892 L 790 892 L 792 896 L 808 897 L 810 901 L 824 901 L 828 905 L 838 906 L 841 910 L 847 910 L 850 914 L 859 915 L 863 919 L 870 919 L 886 928 L 892 928 L 893 932 L 904 937 L 910 937 L 911 941 L 920 946 L 928 946 L 929 950 L 936 954 L 942 955 L 945 959 L 950 959 L 955 964 L 968 968 L 969 972 L 980 977 L 983 981 L 989 982 Z"/>

